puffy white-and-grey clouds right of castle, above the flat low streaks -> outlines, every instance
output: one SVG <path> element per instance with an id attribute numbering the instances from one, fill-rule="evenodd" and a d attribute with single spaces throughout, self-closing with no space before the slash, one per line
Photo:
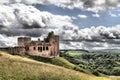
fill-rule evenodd
<path id="1" fill-rule="evenodd" d="M 79 30 L 64 30 L 64 40 L 109 42 L 110 39 L 120 39 L 120 25 L 114 27 L 91 27 Z M 68 36 L 70 34 L 70 36 Z M 68 37 L 67 37 L 68 36 Z"/>

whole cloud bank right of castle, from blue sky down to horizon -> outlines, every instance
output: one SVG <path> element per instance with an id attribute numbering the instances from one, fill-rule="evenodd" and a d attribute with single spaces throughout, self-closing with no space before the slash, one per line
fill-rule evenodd
<path id="1" fill-rule="evenodd" d="M 120 49 L 120 25 L 64 30 L 61 33 L 61 49 Z"/>

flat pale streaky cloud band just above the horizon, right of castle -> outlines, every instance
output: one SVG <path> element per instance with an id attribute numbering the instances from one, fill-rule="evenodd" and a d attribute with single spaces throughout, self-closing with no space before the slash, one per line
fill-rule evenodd
<path id="1" fill-rule="evenodd" d="M 120 41 L 120 40 L 119 40 Z M 99 49 L 120 49 L 119 44 L 109 44 L 107 42 L 61 42 L 61 49 L 85 49 L 85 50 L 99 50 Z"/>

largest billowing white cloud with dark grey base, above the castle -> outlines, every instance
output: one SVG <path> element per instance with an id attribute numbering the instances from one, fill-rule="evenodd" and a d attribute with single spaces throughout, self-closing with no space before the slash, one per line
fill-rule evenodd
<path id="1" fill-rule="evenodd" d="M 0 33 L 40 36 L 46 29 L 78 29 L 70 16 L 54 15 L 25 4 L 0 5 Z M 41 31 L 41 32 L 40 32 Z"/>

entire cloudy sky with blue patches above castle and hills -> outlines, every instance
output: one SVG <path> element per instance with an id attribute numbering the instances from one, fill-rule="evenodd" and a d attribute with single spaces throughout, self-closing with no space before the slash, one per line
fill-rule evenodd
<path id="1" fill-rule="evenodd" d="M 60 36 L 60 49 L 120 49 L 120 0 L 0 0 L 0 47 Z"/>

